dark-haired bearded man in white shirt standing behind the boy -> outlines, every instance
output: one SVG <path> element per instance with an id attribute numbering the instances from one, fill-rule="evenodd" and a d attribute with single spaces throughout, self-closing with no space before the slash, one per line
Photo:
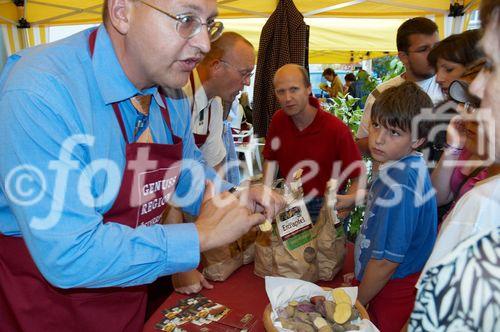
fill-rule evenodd
<path id="1" fill-rule="evenodd" d="M 434 104 L 443 100 L 441 89 L 434 79 L 434 67 L 427 60 L 429 52 L 438 40 L 436 23 L 425 17 L 411 18 L 398 28 L 396 36 L 398 57 L 405 66 L 405 72 L 379 85 L 366 99 L 363 118 L 356 134 L 356 143 L 361 153 L 369 154 L 368 128 L 371 108 L 385 89 L 411 81 L 417 83 L 431 97 Z"/>

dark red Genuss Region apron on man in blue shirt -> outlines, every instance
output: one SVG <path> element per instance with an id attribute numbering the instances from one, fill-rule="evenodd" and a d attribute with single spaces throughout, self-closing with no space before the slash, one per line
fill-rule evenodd
<path id="1" fill-rule="evenodd" d="M 91 54 L 95 37 L 96 31 L 89 38 Z M 113 108 L 127 142 L 126 164 L 118 196 L 103 219 L 134 228 L 152 225 L 160 221 L 177 183 L 179 168 L 171 166 L 182 160 L 182 140 L 173 134 L 168 112 L 161 108 L 173 144 L 130 144 L 118 105 Z M 156 166 L 134 172 L 138 167 L 132 163 L 144 154 L 144 165 Z M 131 192 L 138 194 L 131 197 Z M 53 287 L 40 274 L 22 238 L 0 235 L 0 331 L 140 331 L 146 301 L 146 286 Z"/>

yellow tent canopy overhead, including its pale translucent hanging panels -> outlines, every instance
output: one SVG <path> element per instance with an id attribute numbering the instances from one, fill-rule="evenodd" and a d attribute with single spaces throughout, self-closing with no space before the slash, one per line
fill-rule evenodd
<path id="1" fill-rule="evenodd" d="M 259 44 L 262 26 L 277 2 L 217 0 L 219 16 L 227 30 L 243 34 L 255 46 Z M 479 4 L 479 0 L 464 2 L 468 11 Z M 394 53 L 397 27 L 408 17 L 434 15 L 439 18 L 440 30 L 444 30 L 443 13 L 447 13 L 450 0 L 294 0 L 294 3 L 311 26 L 310 62 L 340 63 L 349 62 L 351 58 L 355 61 L 366 58 L 366 52 L 370 52 L 369 57 L 384 52 Z M 98 23 L 101 21 L 101 7 L 102 0 L 25 0 L 23 9 L 16 8 L 12 0 L 0 0 L 0 24 L 14 24 L 21 17 L 32 24 Z M 350 21 L 346 18 L 358 19 Z M 251 19 L 261 21 L 246 21 Z"/>

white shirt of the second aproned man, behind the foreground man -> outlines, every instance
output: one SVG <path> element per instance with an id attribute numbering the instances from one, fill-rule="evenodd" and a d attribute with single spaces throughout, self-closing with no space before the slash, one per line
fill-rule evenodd
<path id="1" fill-rule="evenodd" d="M 226 147 L 224 146 L 224 141 L 222 140 L 222 100 L 219 97 L 208 100 L 207 94 L 205 93 L 205 89 L 203 88 L 203 84 L 200 81 L 200 76 L 198 75 L 198 71 L 196 69 L 193 70 L 193 76 L 195 87 L 194 101 L 190 81 L 188 81 L 182 90 L 189 98 L 190 107 L 194 102 L 193 114 L 191 114 L 191 128 L 193 133 L 206 135 L 208 130 L 210 130 L 210 134 L 208 135 L 205 143 L 200 147 L 200 150 L 203 153 L 203 158 L 205 158 L 207 164 L 214 167 L 220 164 L 226 157 Z M 208 123 L 209 108 L 211 112 L 210 124 Z M 200 120 L 202 111 L 204 111 L 204 114 L 203 118 Z"/>

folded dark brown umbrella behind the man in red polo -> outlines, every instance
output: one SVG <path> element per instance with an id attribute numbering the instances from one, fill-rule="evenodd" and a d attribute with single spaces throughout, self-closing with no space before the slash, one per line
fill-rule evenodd
<path id="1" fill-rule="evenodd" d="M 267 128 L 279 104 L 274 96 L 273 76 L 287 63 L 307 65 L 309 29 L 292 0 L 280 0 L 260 35 L 255 75 L 254 131 L 266 136 Z"/>

